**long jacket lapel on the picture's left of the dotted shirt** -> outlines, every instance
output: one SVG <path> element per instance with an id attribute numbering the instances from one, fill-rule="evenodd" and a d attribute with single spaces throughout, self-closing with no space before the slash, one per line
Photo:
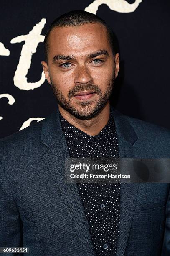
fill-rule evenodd
<path id="1" fill-rule="evenodd" d="M 66 207 L 70 221 L 84 248 L 85 255 L 94 256 L 95 253 L 89 232 L 89 225 L 77 184 L 68 184 L 65 182 L 65 159 L 70 158 L 70 156 L 61 129 L 58 109 L 44 120 L 41 142 L 48 147 L 48 151 L 43 155 L 43 160 L 56 184 L 63 205 Z"/>

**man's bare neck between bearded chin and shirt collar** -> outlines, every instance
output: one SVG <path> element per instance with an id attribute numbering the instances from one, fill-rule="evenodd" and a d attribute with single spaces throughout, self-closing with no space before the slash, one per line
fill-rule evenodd
<path id="1" fill-rule="evenodd" d="M 102 108 L 101 111 L 90 120 L 80 120 L 74 115 L 71 115 L 65 109 L 61 108 L 60 105 L 58 105 L 58 108 L 64 119 L 66 119 L 69 123 L 74 125 L 79 130 L 91 136 L 97 135 L 104 128 L 104 126 L 107 125 L 110 116 L 109 101 L 104 106 L 104 108 Z"/>

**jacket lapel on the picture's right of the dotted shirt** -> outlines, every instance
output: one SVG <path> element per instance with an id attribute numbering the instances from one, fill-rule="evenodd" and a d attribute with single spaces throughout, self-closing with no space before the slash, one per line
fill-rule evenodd
<path id="1" fill-rule="evenodd" d="M 137 135 L 132 126 L 123 116 L 112 107 L 114 123 L 116 126 L 120 158 L 142 158 L 142 151 L 137 144 Z M 120 227 L 117 246 L 117 256 L 123 256 L 127 246 L 129 231 L 136 205 L 139 183 L 121 184 Z"/>

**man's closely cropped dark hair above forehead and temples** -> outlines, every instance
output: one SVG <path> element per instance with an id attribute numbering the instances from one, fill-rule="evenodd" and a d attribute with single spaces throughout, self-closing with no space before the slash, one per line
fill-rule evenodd
<path id="1" fill-rule="evenodd" d="M 112 48 L 113 55 L 115 56 L 115 49 L 114 49 L 114 33 L 112 31 L 112 28 L 110 28 L 107 23 L 102 20 L 99 16 L 86 12 L 84 10 L 73 10 L 71 12 L 65 13 L 56 20 L 51 23 L 51 26 L 48 28 L 48 31 L 45 36 L 44 40 L 44 49 L 45 49 L 45 57 L 46 61 L 48 61 L 48 50 L 49 50 L 49 44 L 48 44 L 48 38 L 50 35 L 50 32 L 55 27 L 64 27 L 64 26 L 79 26 L 86 23 L 101 23 L 104 25 L 104 27 L 107 30 L 107 35 L 109 38 L 109 43 Z"/>

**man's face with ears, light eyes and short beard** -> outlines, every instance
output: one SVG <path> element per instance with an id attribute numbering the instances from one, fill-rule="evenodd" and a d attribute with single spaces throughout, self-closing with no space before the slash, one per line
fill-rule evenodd
<path id="1" fill-rule="evenodd" d="M 46 79 L 58 104 L 81 120 L 93 118 L 106 105 L 119 72 L 106 28 L 100 23 L 56 27 L 49 36 Z"/>

